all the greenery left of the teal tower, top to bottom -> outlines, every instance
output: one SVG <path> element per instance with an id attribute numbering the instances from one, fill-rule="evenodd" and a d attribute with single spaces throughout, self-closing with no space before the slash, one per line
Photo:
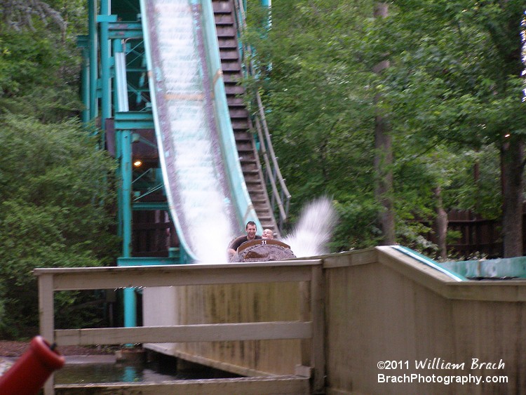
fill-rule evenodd
<path id="1" fill-rule="evenodd" d="M 0 335 L 38 331 L 35 267 L 113 265 L 114 162 L 79 121 L 83 1 L 0 1 Z M 95 319 L 60 294 L 60 321 Z M 84 314 L 86 313 L 86 314 Z M 98 318 L 97 318 L 98 319 Z M 96 322 L 95 322 L 96 323 Z"/>

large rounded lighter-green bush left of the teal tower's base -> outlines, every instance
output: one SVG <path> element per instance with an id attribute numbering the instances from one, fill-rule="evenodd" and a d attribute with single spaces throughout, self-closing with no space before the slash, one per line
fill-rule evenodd
<path id="1" fill-rule="evenodd" d="M 0 127 L 0 278 L 8 284 L 0 321 L 4 335 L 18 336 L 38 323 L 35 267 L 113 262 L 115 169 L 77 121 L 7 114 Z"/>

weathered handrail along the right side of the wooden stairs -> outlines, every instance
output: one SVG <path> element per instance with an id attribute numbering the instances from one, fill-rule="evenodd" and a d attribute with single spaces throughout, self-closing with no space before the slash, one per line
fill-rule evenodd
<path id="1" fill-rule="evenodd" d="M 243 6 L 243 0 L 234 0 L 234 10 L 236 15 L 236 25 L 238 34 L 241 37 L 241 43 L 243 46 L 243 51 L 241 51 L 241 59 L 243 64 L 245 64 L 245 69 L 243 70 L 244 74 L 250 76 L 255 76 L 254 65 L 251 58 L 247 58 L 245 53 L 252 55 L 252 48 L 243 40 L 243 31 L 247 28 L 246 25 L 246 14 L 245 8 Z M 247 60 L 250 59 L 250 60 Z M 255 100 L 257 105 L 257 112 L 253 114 L 255 117 L 255 125 L 257 130 L 257 137 L 259 138 L 260 149 L 262 152 L 262 157 L 265 164 L 265 178 L 267 184 L 270 184 L 272 189 L 272 199 L 271 206 L 272 209 L 278 207 L 280 214 L 279 227 L 283 228 L 283 222 L 288 217 L 288 210 L 290 206 L 291 195 L 288 191 L 287 185 L 285 184 L 285 179 L 281 175 L 281 170 L 278 165 L 278 159 L 274 153 L 274 146 L 272 145 L 271 135 L 269 133 L 269 127 L 267 126 L 267 119 L 265 117 L 265 109 L 259 95 L 257 88 L 255 91 Z M 276 179 L 278 183 L 276 183 Z M 278 190 L 278 184 L 281 187 L 281 190 Z"/>

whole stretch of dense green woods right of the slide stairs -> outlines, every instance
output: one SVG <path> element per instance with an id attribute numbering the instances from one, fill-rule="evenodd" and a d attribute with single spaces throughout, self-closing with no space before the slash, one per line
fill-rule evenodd
<path id="1" fill-rule="evenodd" d="M 280 1 L 269 27 L 249 3 L 245 40 L 259 73 L 246 84 L 264 95 L 296 212 L 312 196 L 333 196 L 334 250 L 383 243 L 390 210 L 397 243 L 446 257 L 455 235 L 445 212 L 464 209 L 501 220 L 504 254 L 522 255 L 525 8 Z M 389 148 L 375 137 L 379 116 Z M 423 237 L 424 219 L 436 222 L 441 246 Z"/>

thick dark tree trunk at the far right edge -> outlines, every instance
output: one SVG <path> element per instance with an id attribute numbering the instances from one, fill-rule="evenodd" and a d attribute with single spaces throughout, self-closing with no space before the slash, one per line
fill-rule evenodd
<path id="1" fill-rule="evenodd" d="M 501 150 L 504 257 L 522 256 L 522 146 L 519 136 L 510 136 Z"/>

